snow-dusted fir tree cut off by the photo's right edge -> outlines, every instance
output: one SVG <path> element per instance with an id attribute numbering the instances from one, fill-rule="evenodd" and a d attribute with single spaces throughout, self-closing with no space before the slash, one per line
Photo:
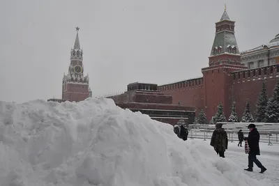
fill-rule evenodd
<path id="1" fill-rule="evenodd" d="M 279 78 L 273 91 L 273 97 L 267 102 L 265 118 L 267 123 L 279 122 Z"/>

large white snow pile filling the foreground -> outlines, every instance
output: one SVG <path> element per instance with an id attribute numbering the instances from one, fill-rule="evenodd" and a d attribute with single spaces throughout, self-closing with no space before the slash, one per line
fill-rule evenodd
<path id="1" fill-rule="evenodd" d="M 263 186 L 204 141 L 116 107 L 0 102 L 0 185 Z"/>

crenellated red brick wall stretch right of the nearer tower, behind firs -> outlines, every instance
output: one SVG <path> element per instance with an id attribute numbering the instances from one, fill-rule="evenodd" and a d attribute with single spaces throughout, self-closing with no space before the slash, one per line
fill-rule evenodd
<path id="1" fill-rule="evenodd" d="M 250 71 L 250 77 L 248 77 L 248 70 L 243 71 L 246 76 L 243 78 L 243 72 L 236 73 L 236 78 L 232 80 L 232 95 L 236 100 L 236 114 L 239 118 L 243 116 L 246 101 L 250 100 L 251 113 L 254 115 L 256 109 L 257 98 L 262 91 L 262 80 L 266 82 L 266 92 L 268 98 L 273 95 L 273 89 L 275 88 L 277 77 L 279 75 L 276 71 L 276 67 L 273 68 L 273 73 L 270 73 L 270 68 L 266 69 L 266 75 L 264 75 L 264 68 L 262 68 L 262 75 L 256 70 L 256 76 L 253 77 L 253 72 Z M 238 78 L 240 76 L 240 79 Z"/>

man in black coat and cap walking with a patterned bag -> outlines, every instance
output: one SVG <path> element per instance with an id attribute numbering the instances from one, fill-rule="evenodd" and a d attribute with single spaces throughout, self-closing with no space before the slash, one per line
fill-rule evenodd
<path id="1" fill-rule="evenodd" d="M 259 132 L 257 131 L 256 125 L 250 124 L 248 125 L 248 129 L 250 130 L 248 137 L 245 138 L 245 140 L 248 141 L 248 146 L 250 148 L 250 152 L 248 155 L 248 169 L 244 169 L 246 171 L 253 171 L 253 164 L 255 164 L 261 169 L 259 173 L 264 173 L 266 171 L 266 168 L 262 165 L 259 160 L 257 160 L 257 155 L 260 155 L 259 153 Z"/>

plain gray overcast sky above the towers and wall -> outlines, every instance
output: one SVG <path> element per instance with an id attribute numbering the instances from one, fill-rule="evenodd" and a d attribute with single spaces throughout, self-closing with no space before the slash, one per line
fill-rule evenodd
<path id="1" fill-rule="evenodd" d="M 93 95 L 201 76 L 225 3 L 241 51 L 279 33 L 278 0 L 1 1 L 0 100 L 61 98 L 75 26 Z"/>

